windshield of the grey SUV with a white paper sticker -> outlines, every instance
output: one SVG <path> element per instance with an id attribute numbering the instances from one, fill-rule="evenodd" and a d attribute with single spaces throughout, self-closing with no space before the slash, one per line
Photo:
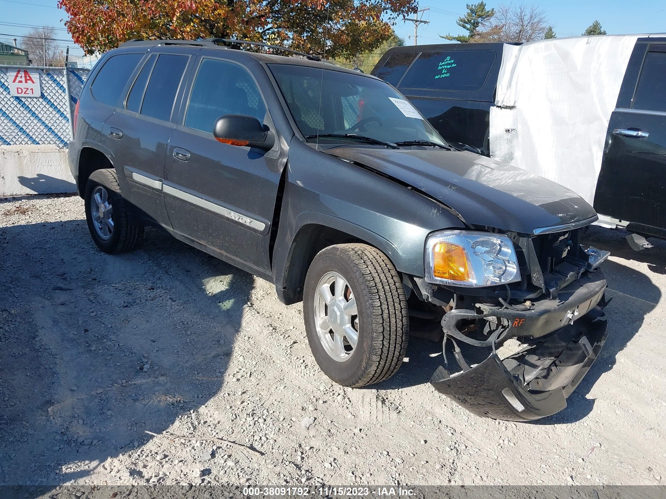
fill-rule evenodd
<path id="1" fill-rule="evenodd" d="M 317 135 L 320 142 L 353 141 L 353 136 L 339 136 L 357 134 L 381 142 L 424 140 L 446 145 L 426 118 L 383 81 L 314 67 L 282 64 L 269 67 L 308 142 L 314 142 Z M 338 137 L 325 138 L 324 134 Z"/>

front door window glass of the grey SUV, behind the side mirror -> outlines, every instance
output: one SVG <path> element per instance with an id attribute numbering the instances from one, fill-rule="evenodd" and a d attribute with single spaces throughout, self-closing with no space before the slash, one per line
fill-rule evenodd
<path id="1" fill-rule="evenodd" d="M 212 133 L 215 120 L 224 114 L 244 114 L 264 122 L 266 106 L 246 69 L 204 59 L 192 85 L 185 126 Z"/>

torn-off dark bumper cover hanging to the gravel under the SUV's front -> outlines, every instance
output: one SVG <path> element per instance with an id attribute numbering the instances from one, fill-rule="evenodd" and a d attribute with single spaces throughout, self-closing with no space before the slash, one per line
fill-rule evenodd
<path id="1" fill-rule="evenodd" d="M 567 397 L 587 374 L 606 336 L 603 311 L 596 306 L 505 359 L 493 349 L 474 367 L 463 360 L 457 375 L 440 366 L 430 383 L 478 416 L 517 421 L 550 416 L 567 407 Z"/>

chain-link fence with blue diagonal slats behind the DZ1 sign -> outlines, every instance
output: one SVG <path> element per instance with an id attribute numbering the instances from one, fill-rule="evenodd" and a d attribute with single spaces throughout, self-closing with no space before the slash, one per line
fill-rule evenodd
<path id="1" fill-rule="evenodd" d="M 23 70 L 39 73 L 39 96 L 11 94 L 10 83 L 21 78 L 17 71 Z M 74 108 L 89 72 L 83 68 L 0 66 L 0 145 L 67 147 Z"/>

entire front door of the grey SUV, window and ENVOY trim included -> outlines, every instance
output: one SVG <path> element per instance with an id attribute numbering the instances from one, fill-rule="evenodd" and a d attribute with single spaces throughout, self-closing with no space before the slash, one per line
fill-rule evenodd
<path id="1" fill-rule="evenodd" d="M 173 229 L 231 263 L 270 273 L 270 228 L 283 165 L 278 145 L 262 151 L 212 135 L 224 114 L 253 116 L 274 132 L 256 81 L 237 63 L 204 57 L 186 106 L 166 154 L 164 193 Z"/>

